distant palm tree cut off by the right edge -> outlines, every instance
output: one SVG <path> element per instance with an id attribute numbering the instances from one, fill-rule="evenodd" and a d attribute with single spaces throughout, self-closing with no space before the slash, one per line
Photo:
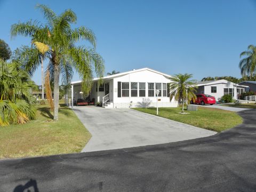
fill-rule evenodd
<path id="1" fill-rule="evenodd" d="M 247 47 L 247 51 L 243 51 L 240 54 L 240 58 L 247 56 L 243 58 L 239 62 L 239 68 L 241 69 L 241 75 L 246 76 L 249 75 L 250 78 L 253 77 L 253 74 L 255 73 L 256 69 L 256 47 L 254 45 L 249 45 Z"/>

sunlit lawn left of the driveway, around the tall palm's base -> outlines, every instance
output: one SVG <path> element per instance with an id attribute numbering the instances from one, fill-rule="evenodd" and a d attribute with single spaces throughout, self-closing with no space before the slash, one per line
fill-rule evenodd
<path id="1" fill-rule="evenodd" d="M 68 107 L 60 107 L 59 121 L 54 122 L 49 107 L 38 106 L 36 120 L 0 127 L 0 158 L 77 153 L 90 138 Z"/>

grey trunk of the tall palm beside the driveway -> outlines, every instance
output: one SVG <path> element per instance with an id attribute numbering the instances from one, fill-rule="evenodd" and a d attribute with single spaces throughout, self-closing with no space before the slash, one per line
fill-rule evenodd
<path id="1" fill-rule="evenodd" d="M 54 91 L 53 91 L 53 99 L 54 99 L 54 115 L 53 119 L 54 121 L 57 121 L 59 119 L 59 79 L 60 79 L 60 69 L 59 65 L 54 65 Z"/>

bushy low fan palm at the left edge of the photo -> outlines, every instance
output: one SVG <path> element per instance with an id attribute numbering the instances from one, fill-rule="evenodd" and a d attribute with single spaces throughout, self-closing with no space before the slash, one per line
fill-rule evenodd
<path id="1" fill-rule="evenodd" d="M 0 60 L 0 126 L 26 123 L 36 116 L 35 83 L 17 63 Z"/>

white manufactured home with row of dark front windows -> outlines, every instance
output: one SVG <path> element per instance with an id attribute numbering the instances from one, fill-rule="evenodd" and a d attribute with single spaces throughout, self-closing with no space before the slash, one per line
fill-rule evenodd
<path id="1" fill-rule="evenodd" d="M 177 107 L 177 101 L 170 101 L 170 75 L 159 71 L 142 68 L 124 73 L 93 79 L 90 100 L 101 102 L 105 108 L 127 107 Z M 159 90 L 158 97 L 156 90 Z M 81 81 L 71 82 L 71 105 L 82 99 Z"/>

